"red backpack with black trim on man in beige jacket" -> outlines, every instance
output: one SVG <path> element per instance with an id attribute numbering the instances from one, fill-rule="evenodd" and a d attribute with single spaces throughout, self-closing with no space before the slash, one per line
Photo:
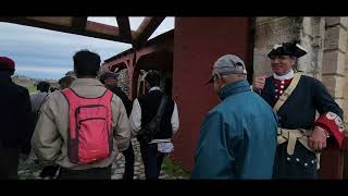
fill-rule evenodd
<path id="1" fill-rule="evenodd" d="M 71 162 L 86 164 L 104 159 L 112 151 L 110 90 L 97 98 L 84 98 L 72 88 L 62 94 L 69 102 L 70 128 L 67 157 Z"/>

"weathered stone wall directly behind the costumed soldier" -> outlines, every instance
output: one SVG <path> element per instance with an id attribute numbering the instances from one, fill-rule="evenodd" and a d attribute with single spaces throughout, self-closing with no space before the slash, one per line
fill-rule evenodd
<path id="1" fill-rule="evenodd" d="M 273 45 L 299 40 L 308 54 L 297 69 L 323 82 L 348 121 L 348 17 L 257 17 L 254 75 L 271 74 L 266 54 Z"/>

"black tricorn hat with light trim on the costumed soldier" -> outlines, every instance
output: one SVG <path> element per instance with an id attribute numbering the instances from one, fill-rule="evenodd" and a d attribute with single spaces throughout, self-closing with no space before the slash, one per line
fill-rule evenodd
<path id="1" fill-rule="evenodd" d="M 300 58 L 307 54 L 307 51 L 296 41 L 294 42 L 283 42 L 282 45 L 274 45 L 272 50 L 269 52 L 268 57 L 272 59 L 274 56 L 291 56 Z"/>

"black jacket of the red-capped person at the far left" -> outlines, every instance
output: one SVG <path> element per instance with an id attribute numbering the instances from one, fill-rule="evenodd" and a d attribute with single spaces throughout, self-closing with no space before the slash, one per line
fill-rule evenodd
<path id="1" fill-rule="evenodd" d="M 21 148 L 30 143 L 35 128 L 29 93 L 2 73 L 0 91 L 0 147 Z"/>

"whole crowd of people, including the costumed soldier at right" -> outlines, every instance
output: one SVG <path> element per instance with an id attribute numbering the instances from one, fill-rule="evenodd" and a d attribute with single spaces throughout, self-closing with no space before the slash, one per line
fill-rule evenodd
<path id="1" fill-rule="evenodd" d="M 273 74 L 247 81 L 244 61 L 223 54 L 207 84 L 220 103 L 203 119 L 191 179 L 318 179 L 320 152 L 345 137 L 343 110 L 318 79 L 297 72 L 307 51 L 298 42 L 269 52 Z M 42 162 L 40 176 L 111 179 L 119 154 L 123 180 L 134 179 L 132 138 L 140 144 L 147 180 L 158 180 L 174 150 L 178 107 L 160 88 L 161 74 L 145 76 L 147 94 L 130 100 L 119 74 L 100 73 L 100 57 L 80 50 L 60 88 L 37 84 L 37 93 L 14 84 L 15 63 L 0 57 L 0 179 L 17 179 L 20 155 Z M 315 112 L 319 118 L 315 118 Z"/>

